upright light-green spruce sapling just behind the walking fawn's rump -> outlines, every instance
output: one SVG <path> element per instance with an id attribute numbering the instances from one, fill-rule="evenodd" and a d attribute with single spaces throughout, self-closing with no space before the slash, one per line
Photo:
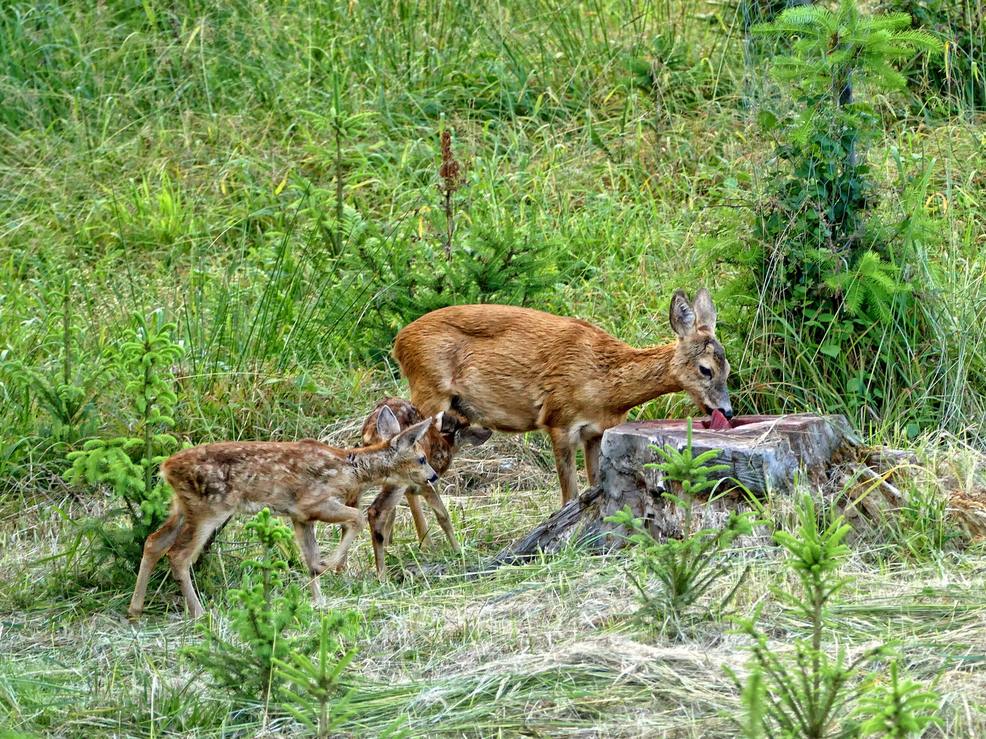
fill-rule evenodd
<path id="1" fill-rule="evenodd" d="M 175 375 L 169 368 L 184 350 L 171 334 L 174 323 L 165 323 L 161 313 L 148 322 L 134 313 L 134 328 L 123 336 L 113 371 L 122 380 L 131 403 L 128 436 L 95 438 L 68 455 L 72 462 L 70 484 L 108 485 L 116 501 L 124 504 L 129 528 L 106 530 L 107 543 L 115 553 L 125 553 L 131 564 L 139 563 L 147 537 L 168 518 L 171 490 L 163 480 L 154 481 L 155 470 L 166 459 L 177 439 L 163 433 L 175 425 L 172 418 L 177 396 L 172 389 Z"/>

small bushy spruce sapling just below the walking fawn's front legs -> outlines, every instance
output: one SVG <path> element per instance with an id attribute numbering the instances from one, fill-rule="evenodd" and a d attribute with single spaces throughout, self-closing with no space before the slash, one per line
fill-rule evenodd
<path id="1" fill-rule="evenodd" d="M 202 643 L 183 653 L 208 672 L 216 686 L 246 701 L 265 700 L 276 688 L 275 660 L 311 652 L 304 632 L 312 609 L 298 583 L 285 587 L 281 580 L 280 572 L 288 570 L 288 563 L 277 556 L 278 545 L 290 540 L 291 529 L 271 518 L 267 508 L 246 529 L 261 545 L 263 557 L 246 560 L 243 587 L 229 593 L 230 627 L 236 640 L 225 638 L 210 617 L 209 623 L 195 627 Z"/>

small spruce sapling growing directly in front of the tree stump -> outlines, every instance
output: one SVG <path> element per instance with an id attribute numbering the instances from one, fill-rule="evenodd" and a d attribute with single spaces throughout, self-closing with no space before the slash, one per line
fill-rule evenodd
<path id="1" fill-rule="evenodd" d="M 629 541 L 636 545 L 633 556 L 645 575 L 644 582 L 636 578 L 633 580 L 641 602 L 638 618 L 662 627 L 670 623 L 676 634 L 682 632 L 682 625 L 691 608 L 729 571 L 722 557 L 723 550 L 728 549 L 737 537 L 752 533 L 756 523 L 752 512 L 738 515 L 736 511 L 730 511 L 723 528 L 702 529 L 692 533 L 691 508 L 694 496 L 715 486 L 719 481 L 709 480 L 709 475 L 729 469 L 729 465 L 705 464 L 716 459 L 722 449 L 710 449 L 693 456 L 690 417 L 687 424 L 688 437 L 684 449 L 679 452 L 670 444 L 665 449 L 652 445 L 651 448 L 663 454 L 666 461 L 645 465 L 662 470 L 668 481 L 676 482 L 681 487 L 681 496 L 664 494 L 666 500 L 678 504 L 684 510 L 681 539 L 659 543 L 643 521 L 633 517 L 628 505 L 605 519 L 626 526 L 633 532 L 629 537 Z M 657 580 L 656 589 L 647 584 L 648 577 Z M 742 577 L 719 604 L 720 612 L 733 599 L 741 582 Z M 706 610 L 705 613 L 709 614 L 710 611 Z"/>

